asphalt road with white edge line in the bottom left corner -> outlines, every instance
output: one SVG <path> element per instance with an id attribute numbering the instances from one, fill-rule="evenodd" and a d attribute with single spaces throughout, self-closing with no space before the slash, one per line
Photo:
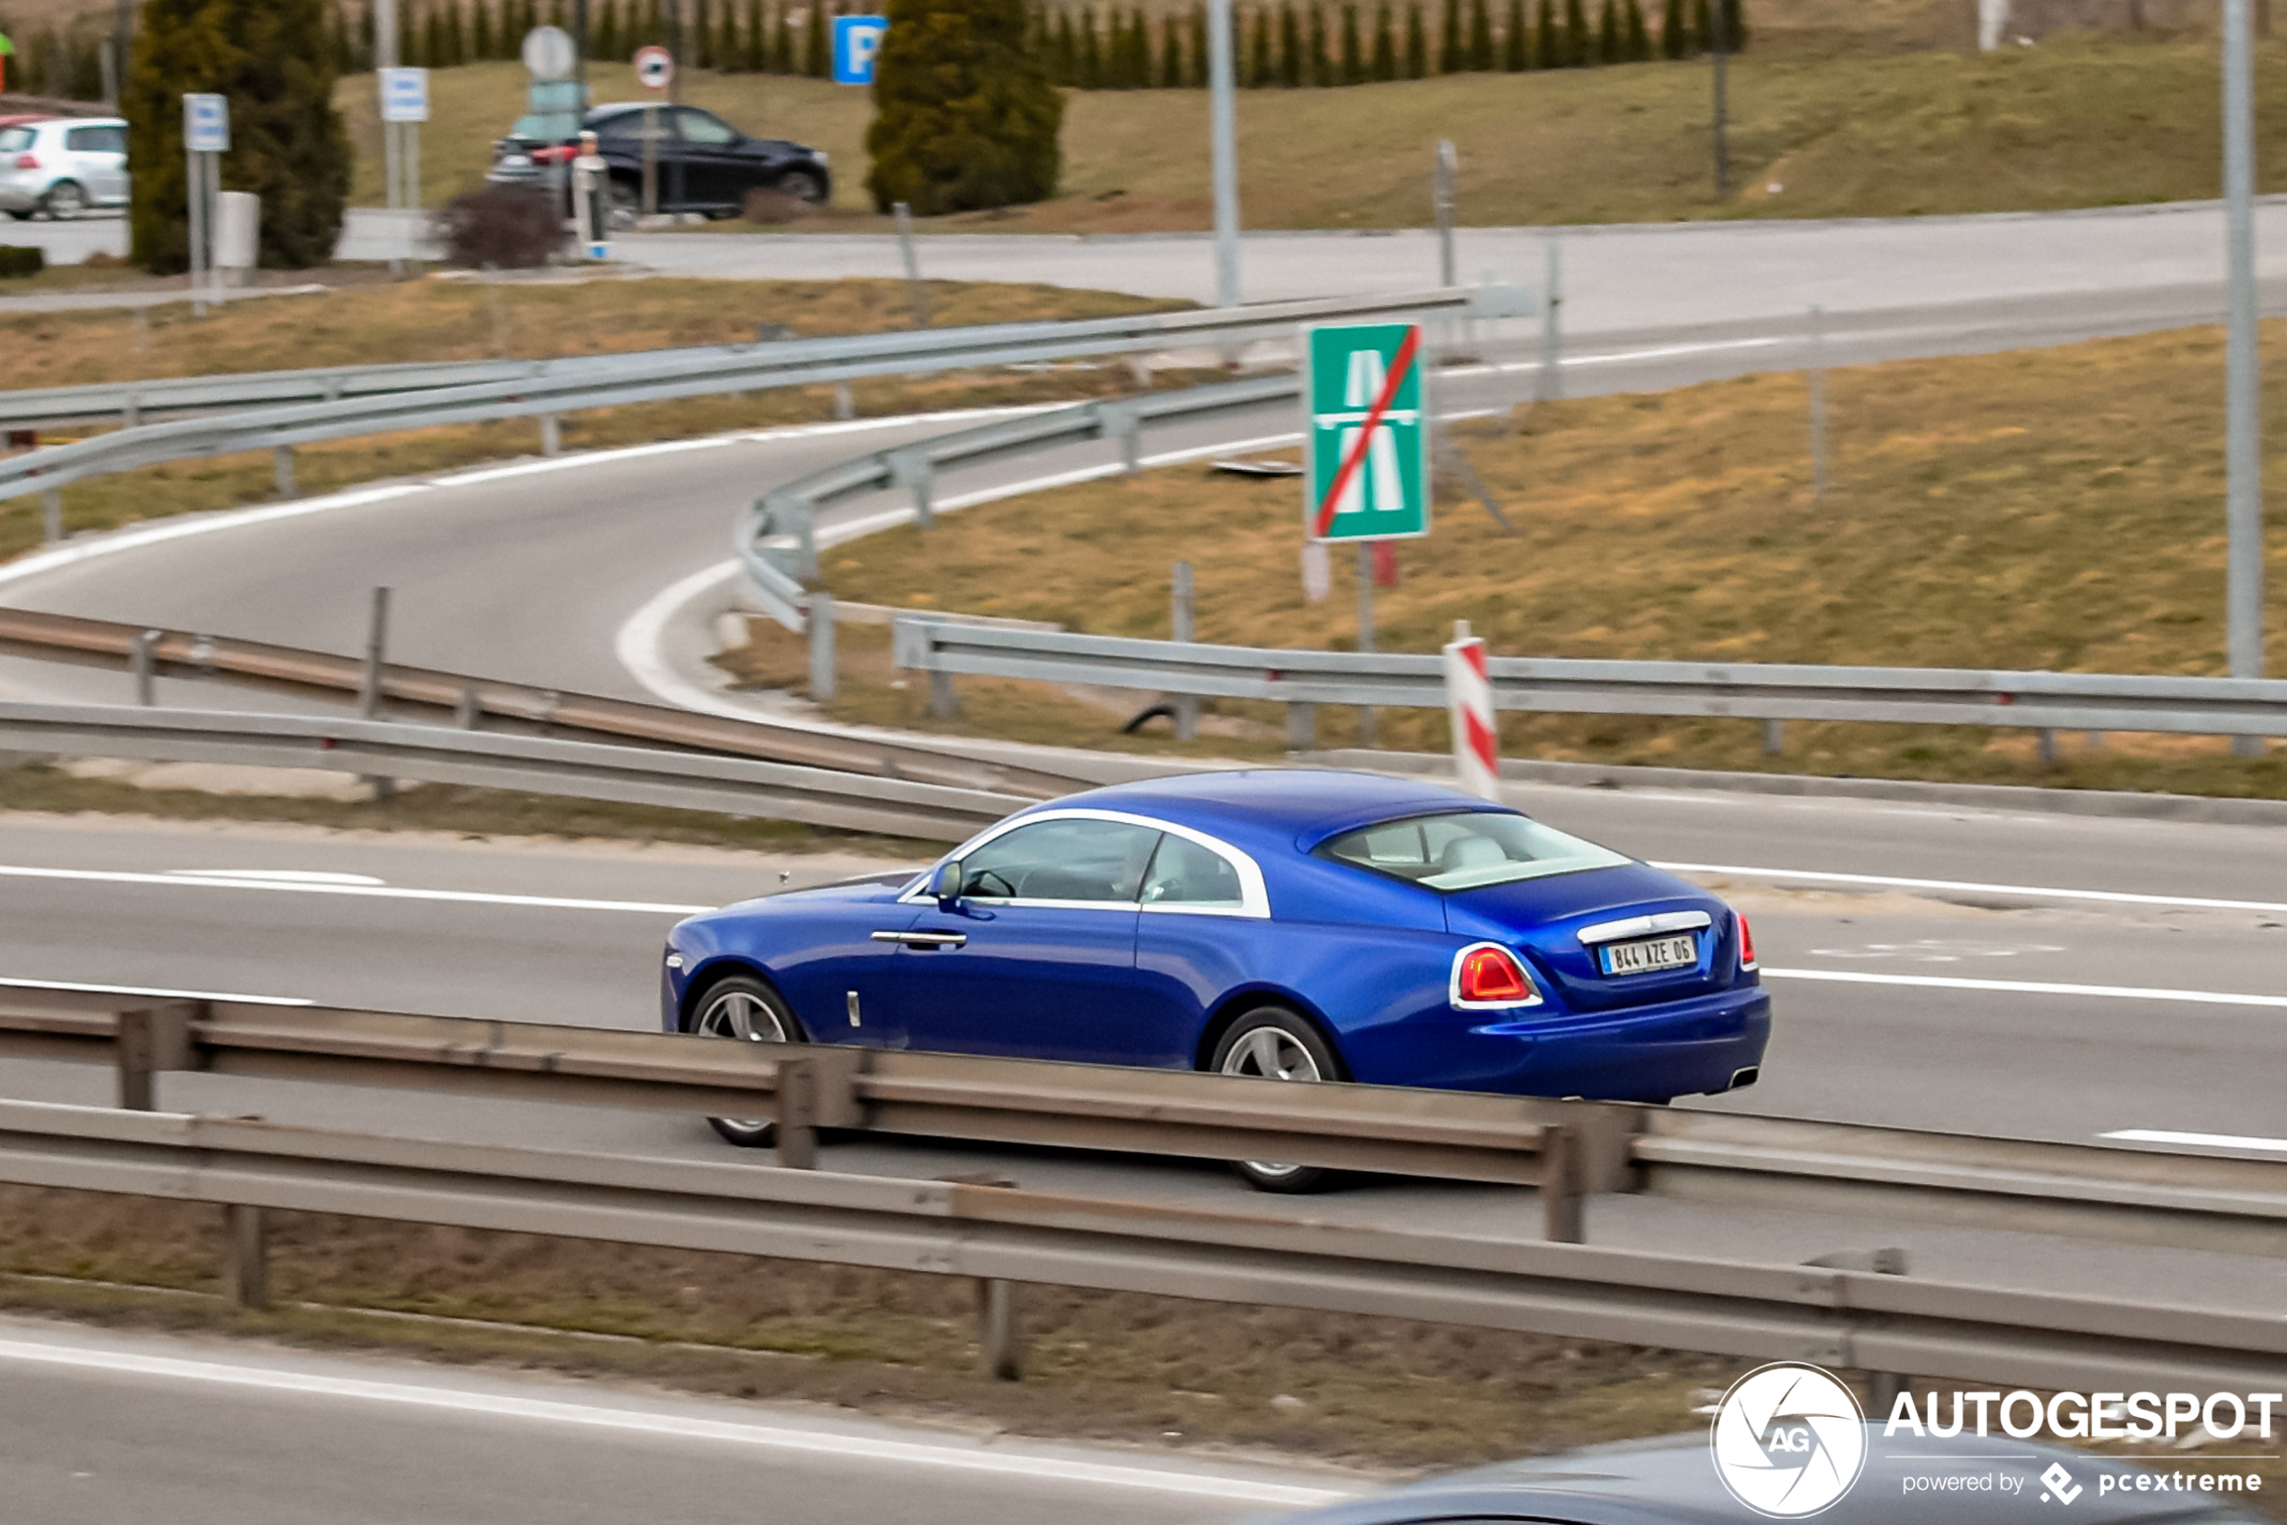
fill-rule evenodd
<path id="1" fill-rule="evenodd" d="M 0 1319 L 0 1498 L 41 1525 L 1212 1525 L 1370 1479 Z"/>

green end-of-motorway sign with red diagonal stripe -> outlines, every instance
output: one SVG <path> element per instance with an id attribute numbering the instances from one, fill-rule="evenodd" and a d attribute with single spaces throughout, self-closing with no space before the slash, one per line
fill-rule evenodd
<path id="1" fill-rule="evenodd" d="M 1356 322 L 1304 336 L 1304 457 L 1310 540 L 1429 533 L 1429 416 L 1423 332 Z"/>

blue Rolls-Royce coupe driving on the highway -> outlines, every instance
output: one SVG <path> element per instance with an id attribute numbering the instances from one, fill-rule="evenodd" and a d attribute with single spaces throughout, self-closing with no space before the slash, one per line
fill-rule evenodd
<path id="1" fill-rule="evenodd" d="M 919 876 L 691 917 L 663 1006 L 716 1038 L 1635 1102 L 1752 1084 L 1770 1033 L 1747 921 L 1697 885 L 1436 784 L 1285 768 L 1093 789 Z"/>

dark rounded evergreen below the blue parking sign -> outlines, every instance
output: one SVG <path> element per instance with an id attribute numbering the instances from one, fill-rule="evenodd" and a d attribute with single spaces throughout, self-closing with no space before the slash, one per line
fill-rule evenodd
<path id="1" fill-rule="evenodd" d="M 890 0 L 874 62 L 867 190 L 922 217 L 1045 201 L 1063 96 L 1025 48 L 1025 0 Z"/>

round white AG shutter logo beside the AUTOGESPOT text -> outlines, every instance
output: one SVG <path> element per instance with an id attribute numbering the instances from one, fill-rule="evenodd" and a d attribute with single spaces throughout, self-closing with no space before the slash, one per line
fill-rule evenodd
<path id="1" fill-rule="evenodd" d="M 1830 1372 L 1779 1360 L 1731 1383 L 1708 1452 L 1724 1491 L 1775 1520 L 1834 1504 L 1866 1468 L 1866 1415 Z"/>

